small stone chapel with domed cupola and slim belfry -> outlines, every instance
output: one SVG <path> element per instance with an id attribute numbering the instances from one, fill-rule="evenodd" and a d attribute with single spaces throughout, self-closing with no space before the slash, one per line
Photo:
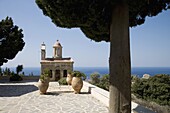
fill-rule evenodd
<path id="1" fill-rule="evenodd" d="M 58 40 L 53 45 L 52 58 L 46 58 L 46 45 L 41 44 L 41 73 L 44 69 L 49 69 L 51 81 L 58 81 L 60 78 L 67 77 L 68 71 L 73 71 L 73 63 L 71 57 L 62 57 L 62 46 Z"/>

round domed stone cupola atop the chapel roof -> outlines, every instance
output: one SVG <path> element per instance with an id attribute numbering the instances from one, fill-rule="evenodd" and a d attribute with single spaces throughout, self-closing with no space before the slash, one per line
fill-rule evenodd
<path id="1" fill-rule="evenodd" d="M 53 57 L 54 58 L 62 58 L 62 46 L 58 40 L 53 45 Z"/>

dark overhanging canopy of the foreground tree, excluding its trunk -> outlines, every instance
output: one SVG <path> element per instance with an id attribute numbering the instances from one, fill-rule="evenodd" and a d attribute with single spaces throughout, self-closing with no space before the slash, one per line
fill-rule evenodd
<path id="1" fill-rule="evenodd" d="M 80 27 L 95 41 L 110 41 L 112 8 L 122 0 L 36 0 L 44 15 L 65 28 Z M 146 16 L 156 16 L 170 8 L 170 0 L 126 0 L 129 4 L 129 26 L 144 23 Z"/>

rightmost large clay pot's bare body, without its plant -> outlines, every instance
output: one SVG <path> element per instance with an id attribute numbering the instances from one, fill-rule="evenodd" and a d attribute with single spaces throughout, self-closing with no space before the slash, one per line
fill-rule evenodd
<path id="1" fill-rule="evenodd" d="M 81 77 L 73 77 L 71 82 L 72 88 L 74 89 L 74 93 L 80 93 L 81 88 L 83 87 L 83 80 Z"/>

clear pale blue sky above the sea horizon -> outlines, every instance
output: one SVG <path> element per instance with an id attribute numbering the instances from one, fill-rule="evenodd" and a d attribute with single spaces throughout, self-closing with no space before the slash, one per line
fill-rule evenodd
<path id="1" fill-rule="evenodd" d="M 40 67 L 40 45 L 46 44 L 52 57 L 59 40 L 63 57 L 72 57 L 75 67 L 108 67 L 110 44 L 88 39 L 78 28 L 56 27 L 43 15 L 35 0 L 0 0 L 0 20 L 12 17 L 23 29 L 25 47 L 3 67 Z M 130 28 L 132 67 L 170 67 L 170 11 L 148 17 L 145 24 Z M 0 53 L 3 54 L 3 53 Z"/>

